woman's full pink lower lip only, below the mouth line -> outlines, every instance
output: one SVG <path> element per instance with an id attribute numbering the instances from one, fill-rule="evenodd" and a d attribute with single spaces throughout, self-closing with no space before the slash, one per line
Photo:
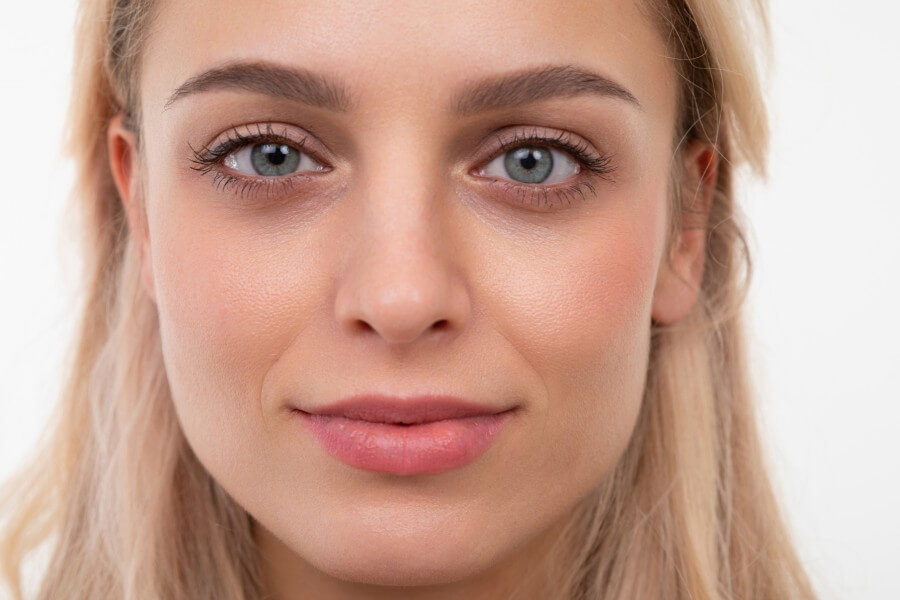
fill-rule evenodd
<path id="1" fill-rule="evenodd" d="M 393 475 L 440 473 L 469 464 L 487 451 L 512 412 L 393 425 L 294 411 L 338 460 Z"/>

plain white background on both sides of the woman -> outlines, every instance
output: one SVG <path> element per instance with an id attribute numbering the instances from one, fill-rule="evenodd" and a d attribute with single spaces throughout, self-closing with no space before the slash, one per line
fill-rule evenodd
<path id="1" fill-rule="evenodd" d="M 900 9 L 772 4 L 771 177 L 743 198 L 761 424 L 821 597 L 900 598 Z M 0 478 L 41 430 L 76 317 L 59 151 L 73 18 L 0 5 Z"/>

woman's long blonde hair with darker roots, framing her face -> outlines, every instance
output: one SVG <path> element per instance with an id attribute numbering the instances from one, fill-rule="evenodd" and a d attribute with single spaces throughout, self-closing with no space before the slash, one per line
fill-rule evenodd
<path id="1" fill-rule="evenodd" d="M 579 502 L 554 556 L 565 599 L 814 598 L 767 475 L 742 329 L 751 261 L 733 176 L 765 175 L 764 0 L 644 0 L 679 77 L 673 159 L 718 155 L 699 298 L 651 324 L 642 406 L 614 470 Z M 253 522 L 178 424 L 156 307 L 142 292 L 106 129 L 139 130 L 148 0 L 82 0 L 68 150 L 83 233 L 82 320 L 49 427 L 0 495 L 3 579 L 46 544 L 36 598 L 247 600 L 261 595 Z M 690 211 L 673 160 L 667 244 Z M 525 594 L 534 597 L 534 589 Z"/>

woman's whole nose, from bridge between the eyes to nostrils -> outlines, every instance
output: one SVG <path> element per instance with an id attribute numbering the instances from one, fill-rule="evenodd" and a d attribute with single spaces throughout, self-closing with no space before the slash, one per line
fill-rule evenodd
<path id="1" fill-rule="evenodd" d="M 468 298 L 448 247 L 446 165 L 415 128 L 394 130 L 361 153 L 335 318 L 350 333 L 408 343 L 461 327 Z"/>

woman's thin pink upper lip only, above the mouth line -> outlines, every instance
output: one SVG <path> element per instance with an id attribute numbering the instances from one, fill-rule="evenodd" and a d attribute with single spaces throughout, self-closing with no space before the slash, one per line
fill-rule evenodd
<path id="1" fill-rule="evenodd" d="M 493 415 L 511 407 L 497 408 L 477 404 L 455 396 L 385 396 L 360 394 L 329 404 L 302 409 L 314 415 L 329 415 L 377 423 L 428 423 L 444 419 L 461 419 Z"/>

